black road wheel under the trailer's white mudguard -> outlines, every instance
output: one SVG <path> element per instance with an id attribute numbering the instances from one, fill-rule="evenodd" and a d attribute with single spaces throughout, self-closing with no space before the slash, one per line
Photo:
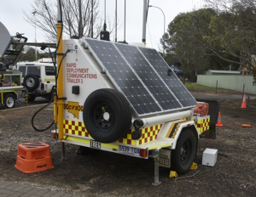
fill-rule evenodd
<path id="1" fill-rule="evenodd" d="M 189 128 L 183 130 L 172 150 L 172 168 L 177 174 L 189 172 L 195 158 L 196 137 Z"/>

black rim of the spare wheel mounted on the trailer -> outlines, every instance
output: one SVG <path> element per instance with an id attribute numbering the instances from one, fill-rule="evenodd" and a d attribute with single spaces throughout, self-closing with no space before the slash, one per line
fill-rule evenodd
<path id="1" fill-rule="evenodd" d="M 96 127 L 107 130 L 113 127 L 113 113 L 108 104 L 98 104 L 93 111 Z"/>

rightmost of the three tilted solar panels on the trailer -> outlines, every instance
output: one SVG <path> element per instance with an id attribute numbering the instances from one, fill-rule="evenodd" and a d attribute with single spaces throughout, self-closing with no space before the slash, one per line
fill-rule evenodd
<path id="1" fill-rule="evenodd" d="M 170 69 L 166 61 L 160 56 L 160 54 L 152 48 L 139 48 L 143 53 L 143 56 L 148 59 L 150 65 L 154 67 L 154 70 L 159 74 L 162 80 L 166 83 L 178 101 L 184 108 L 193 107 L 196 104 L 195 98 L 189 93 L 183 83 L 177 78 L 174 72 L 171 76 L 167 75 Z"/>

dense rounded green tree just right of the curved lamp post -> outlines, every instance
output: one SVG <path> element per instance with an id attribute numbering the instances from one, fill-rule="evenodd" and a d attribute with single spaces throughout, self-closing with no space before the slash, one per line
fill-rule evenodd
<path id="1" fill-rule="evenodd" d="M 208 49 L 204 37 L 211 34 L 209 24 L 215 15 L 211 8 L 178 14 L 168 25 L 168 34 L 160 41 L 163 48 L 166 48 L 167 62 L 180 62 L 184 76 L 189 76 L 193 82 L 196 81 L 198 73 L 202 74 L 208 69 L 219 67 L 224 69 L 228 66 L 216 57 L 206 56 Z"/>

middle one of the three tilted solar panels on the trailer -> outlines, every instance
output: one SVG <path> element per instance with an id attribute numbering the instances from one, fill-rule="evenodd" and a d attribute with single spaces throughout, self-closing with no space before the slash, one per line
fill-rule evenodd
<path id="1" fill-rule="evenodd" d="M 177 98 L 172 95 L 166 84 L 162 82 L 160 76 L 155 73 L 154 69 L 148 64 L 148 61 L 143 57 L 137 47 L 119 43 L 115 43 L 114 45 L 119 49 L 119 52 L 122 53 L 124 59 L 131 66 L 131 69 L 135 71 L 138 78 L 143 82 L 143 85 L 163 110 L 182 108 Z"/>

